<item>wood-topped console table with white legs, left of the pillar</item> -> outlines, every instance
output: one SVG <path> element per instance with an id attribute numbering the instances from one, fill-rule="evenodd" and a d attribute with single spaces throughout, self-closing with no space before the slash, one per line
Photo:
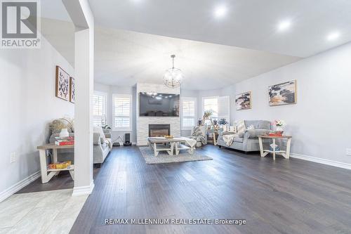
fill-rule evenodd
<path id="1" fill-rule="evenodd" d="M 46 162 L 46 150 L 53 150 L 53 158 L 52 162 L 58 162 L 58 149 L 69 149 L 74 148 L 74 145 L 55 145 L 53 143 L 38 146 L 39 157 L 40 157 L 40 171 L 41 171 L 41 183 L 48 183 L 48 181 L 53 178 L 53 176 L 57 176 L 60 171 L 69 171 L 72 179 L 74 180 L 74 165 L 65 168 L 65 169 L 48 169 L 48 165 Z"/>

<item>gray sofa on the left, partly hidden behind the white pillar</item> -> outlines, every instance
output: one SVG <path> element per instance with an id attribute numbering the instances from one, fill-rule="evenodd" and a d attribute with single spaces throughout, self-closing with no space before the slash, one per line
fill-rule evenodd
<path id="1" fill-rule="evenodd" d="M 105 134 L 105 138 L 107 141 L 111 139 L 111 130 L 110 129 L 102 129 Z M 55 137 L 59 136 L 59 134 L 52 134 L 50 136 L 49 142 L 54 143 Z M 69 133 L 69 136 L 74 136 L 74 133 Z M 93 163 L 98 164 L 98 167 L 104 162 L 105 158 L 111 151 L 111 145 L 109 143 L 101 141 L 100 133 L 93 133 Z M 61 149 L 58 150 L 58 161 L 67 161 L 71 160 L 74 162 L 74 149 Z"/>

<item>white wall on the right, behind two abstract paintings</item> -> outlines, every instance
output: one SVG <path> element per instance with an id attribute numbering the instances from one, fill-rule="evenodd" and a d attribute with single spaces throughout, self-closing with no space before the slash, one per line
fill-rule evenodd
<path id="1" fill-rule="evenodd" d="M 297 80 L 297 104 L 270 107 L 268 86 Z M 351 43 L 236 84 L 252 91 L 252 109 L 235 119 L 284 119 L 296 154 L 351 163 Z M 234 107 L 234 105 L 232 105 Z"/>

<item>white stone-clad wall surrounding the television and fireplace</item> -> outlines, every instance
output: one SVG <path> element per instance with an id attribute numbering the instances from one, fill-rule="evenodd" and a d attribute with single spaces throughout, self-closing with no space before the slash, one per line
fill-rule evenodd
<path id="1" fill-rule="evenodd" d="M 147 145 L 149 124 L 171 124 L 171 135 L 180 136 L 180 117 L 145 117 L 139 116 L 139 93 L 173 93 L 180 94 L 180 88 L 171 89 L 164 84 L 136 84 L 136 138 L 137 145 Z"/>

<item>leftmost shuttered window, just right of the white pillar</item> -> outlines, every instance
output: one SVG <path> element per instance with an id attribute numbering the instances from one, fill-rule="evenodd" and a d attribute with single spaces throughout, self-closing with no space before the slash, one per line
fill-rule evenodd
<path id="1" fill-rule="evenodd" d="M 94 91 L 93 96 L 93 124 L 102 126 L 106 124 L 107 114 L 107 93 Z"/>

